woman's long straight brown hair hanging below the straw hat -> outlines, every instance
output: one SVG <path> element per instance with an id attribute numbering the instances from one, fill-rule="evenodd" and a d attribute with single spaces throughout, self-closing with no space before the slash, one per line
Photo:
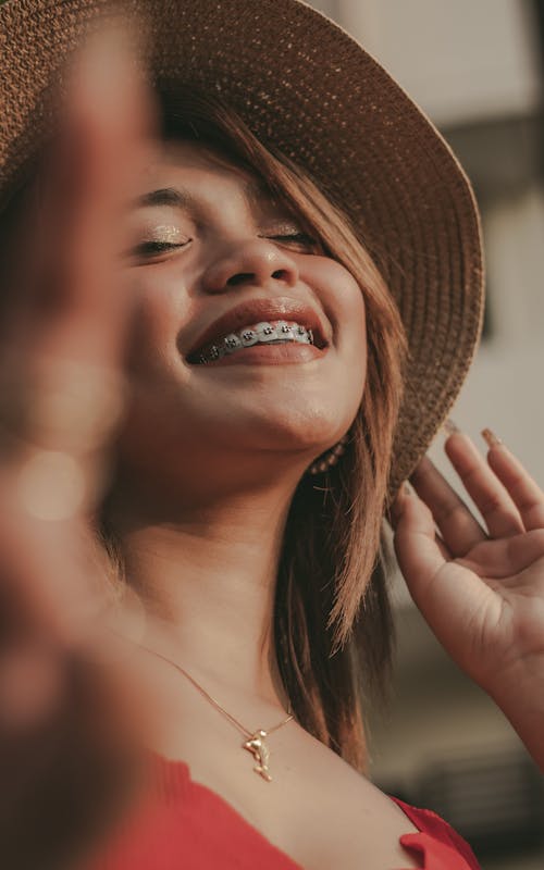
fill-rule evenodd
<path id="1" fill-rule="evenodd" d="M 256 173 L 343 263 L 364 295 L 367 385 L 348 449 L 326 477 L 305 475 L 287 519 L 274 605 L 280 673 L 300 724 L 368 769 L 367 697 L 384 700 L 393 620 L 380 540 L 406 338 L 398 310 L 342 210 L 285 156 L 209 96 L 159 88 L 165 138 L 193 139 Z"/>

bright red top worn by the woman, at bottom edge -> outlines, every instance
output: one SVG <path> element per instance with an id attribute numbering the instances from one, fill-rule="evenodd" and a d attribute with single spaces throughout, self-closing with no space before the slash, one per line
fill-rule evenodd
<path id="1" fill-rule="evenodd" d="M 89 870 L 301 870 L 220 795 L 194 782 L 183 761 L 157 757 L 152 774 L 152 800 Z M 400 843 L 423 870 L 481 870 L 468 843 L 440 816 L 392 800 L 419 829 Z"/>

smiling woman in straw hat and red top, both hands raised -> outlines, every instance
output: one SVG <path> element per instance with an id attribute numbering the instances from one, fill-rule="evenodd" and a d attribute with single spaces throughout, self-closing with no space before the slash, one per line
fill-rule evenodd
<path id="1" fill-rule="evenodd" d="M 397 86 L 304 4 L 146 8 L 161 145 L 122 46 L 99 42 L 18 198 L 47 133 L 44 82 L 85 16 L 2 10 L 4 283 L 27 289 L 4 318 L 3 574 L 11 626 L 54 654 L 32 697 L 36 656 L 34 679 L 4 680 L 7 745 L 41 790 L 29 811 L 23 783 L 12 818 L 36 825 L 81 775 L 88 845 L 126 735 L 151 750 L 144 803 L 94 867 L 478 867 L 445 822 L 361 776 L 361 686 L 390 654 L 375 568 L 390 509 L 416 602 L 544 766 L 543 495 L 504 446 L 485 463 L 454 433 L 484 531 L 418 464 L 480 330 L 470 188 Z M 419 498 L 398 494 L 408 475 Z M 70 605 L 104 574 L 113 645 Z M 127 684 L 135 736 L 111 697 L 96 722 L 98 693 Z M 41 847 L 60 862 L 77 825 L 51 816 Z M 9 833 L 12 866 L 32 866 Z"/>

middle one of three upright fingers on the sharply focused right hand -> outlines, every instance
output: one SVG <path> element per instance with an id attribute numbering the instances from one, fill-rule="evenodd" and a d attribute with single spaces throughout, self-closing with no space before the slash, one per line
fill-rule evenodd
<path id="1" fill-rule="evenodd" d="M 523 532 L 523 523 L 516 505 L 468 435 L 459 430 L 453 432 L 445 443 L 445 450 L 480 510 L 491 537 Z"/>

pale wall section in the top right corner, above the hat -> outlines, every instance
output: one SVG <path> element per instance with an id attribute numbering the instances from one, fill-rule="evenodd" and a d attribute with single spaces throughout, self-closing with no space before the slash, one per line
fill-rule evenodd
<path id="1" fill-rule="evenodd" d="M 339 23 L 438 124 L 522 114 L 539 98 L 522 0 L 336 0 Z"/>

